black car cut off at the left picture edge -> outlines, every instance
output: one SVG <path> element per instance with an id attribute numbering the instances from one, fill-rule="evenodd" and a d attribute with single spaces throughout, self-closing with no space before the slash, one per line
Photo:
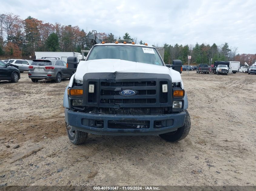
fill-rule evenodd
<path id="1" fill-rule="evenodd" d="M 20 72 L 18 66 L 6 64 L 0 60 L 0 81 L 9 80 L 13 83 L 18 82 L 20 79 Z"/>

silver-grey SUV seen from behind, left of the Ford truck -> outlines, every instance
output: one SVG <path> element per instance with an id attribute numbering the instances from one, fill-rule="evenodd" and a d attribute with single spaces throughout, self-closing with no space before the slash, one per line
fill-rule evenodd
<path id="1" fill-rule="evenodd" d="M 28 77 L 31 78 L 32 82 L 46 79 L 59 83 L 62 79 L 71 78 L 73 74 L 73 71 L 68 70 L 65 61 L 49 57 L 33 60 L 28 70 Z"/>

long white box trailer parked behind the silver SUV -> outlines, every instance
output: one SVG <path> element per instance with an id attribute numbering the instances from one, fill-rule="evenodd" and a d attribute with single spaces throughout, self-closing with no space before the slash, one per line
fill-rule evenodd
<path id="1" fill-rule="evenodd" d="M 35 52 L 36 59 L 40 59 L 42 57 L 56 57 L 67 62 L 68 56 L 75 56 L 77 58 L 77 62 L 80 62 L 82 59 L 81 53 L 76 52 Z"/>

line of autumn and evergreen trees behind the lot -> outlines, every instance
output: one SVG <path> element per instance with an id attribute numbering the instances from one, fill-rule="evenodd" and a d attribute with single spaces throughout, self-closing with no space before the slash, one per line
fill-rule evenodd
<path id="1" fill-rule="evenodd" d="M 93 44 L 88 39 L 91 32 L 78 26 L 62 25 L 59 23 L 45 23 L 28 16 L 25 20 L 20 16 L 8 13 L 0 14 L 0 56 L 8 58 L 28 58 L 34 56 L 35 51 L 62 51 L 81 52 L 81 49 L 90 49 Z M 131 37 L 125 33 L 123 37 L 117 37 L 112 33 L 101 32 L 101 39 L 106 43 L 112 43 L 116 38 L 131 39 L 136 44 L 145 44 L 137 37 Z M 152 45 L 154 46 L 154 45 Z M 170 64 L 174 59 L 180 59 L 183 63 L 211 63 L 219 61 L 240 61 L 252 63 L 256 60 L 256 54 L 237 54 L 237 47 L 229 47 L 228 43 L 222 45 L 196 43 L 195 45 L 169 45 L 164 44 L 164 62 Z"/>

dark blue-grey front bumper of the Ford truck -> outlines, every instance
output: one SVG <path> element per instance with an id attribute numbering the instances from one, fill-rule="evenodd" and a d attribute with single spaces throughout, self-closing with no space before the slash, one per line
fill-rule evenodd
<path id="1" fill-rule="evenodd" d="M 83 132 L 88 132 L 98 135 L 159 135 L 167 132 L 172 132 L 182 127 L 185 122 L 185 111 L 181 113 L 172 113 L 165 115 L 107 115 L 74 112 L 65 108 L 65 121 L 70 126 Z M 101 127 L 91 125 L 91 121 L 101 121 Z M 148 121 L 147 128 L 113 128 L 110 126 L 110 121 Z M 154 126 L 155 123 L 161 121 L 165 126 L 159 128 Z M 118 126 L 118 125 L 117 125 Z"/>

